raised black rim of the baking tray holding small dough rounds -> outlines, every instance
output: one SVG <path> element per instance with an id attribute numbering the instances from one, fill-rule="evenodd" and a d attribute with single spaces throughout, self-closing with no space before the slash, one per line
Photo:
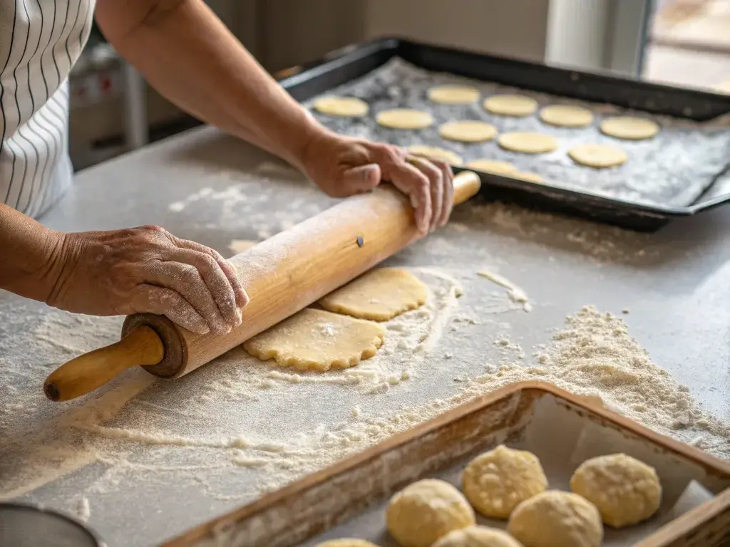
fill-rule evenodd
<path id="1" fill-rule="evenodd" d="M 402 58 L 428 71 L 446 72 L 696 122 L 712 120 L 730 112 L 730 96 L 672 88 L 612 74 L 560 69 L 391 37 L 342 47 L 318 61 L 279 71 L 275 77 L 293 98 L 307 101 L 368 74 L 393 57 Z M 455 172 L 462 170 L 454 168 Z M 701 195 L 695 203 L 686 207 L 650 206 L 604 198 L 580 190 L 535 185 L 493 174 L 480 173 L 480 177 L 483 183 L 480 198 L 488 201 L 518 203 L 532 209 L 646 232 L 658 230 L 679 217 L 688 217 L 730 202 L 730 194 L 706 201 L 702 201 Z"/>

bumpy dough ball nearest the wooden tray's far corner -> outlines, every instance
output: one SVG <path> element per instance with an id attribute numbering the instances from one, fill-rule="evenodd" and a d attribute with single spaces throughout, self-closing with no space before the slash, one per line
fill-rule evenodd
<path id="1" fill-rule="evenodd" d="M 507 519 L 519 503 L 548 488 L 548 478 L 534 454 L 504 445 L 472 459 L 462 482 L 474 508 L 495 519 Z"/>

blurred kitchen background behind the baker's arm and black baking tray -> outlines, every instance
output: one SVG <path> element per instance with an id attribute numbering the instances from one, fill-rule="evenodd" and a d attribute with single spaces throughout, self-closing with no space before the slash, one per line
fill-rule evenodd
<path id="1" fill-rule="evenodd" d="M 730 0 L 208 0 L 272 72 L 377 36 L 730 93 Z M 81 169 L 198 125 L 96 28 L 71 76 Z"/>

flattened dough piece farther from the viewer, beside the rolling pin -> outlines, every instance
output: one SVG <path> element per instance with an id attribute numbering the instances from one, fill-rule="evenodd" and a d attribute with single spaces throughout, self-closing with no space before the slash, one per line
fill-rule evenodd
<path id="1" fill-rule="evenodd" d="M 377 268 L 320 300 L 337 314 L 388 321 L 426 303 L 428 291 L 418 278 L 399 268 Z"/>

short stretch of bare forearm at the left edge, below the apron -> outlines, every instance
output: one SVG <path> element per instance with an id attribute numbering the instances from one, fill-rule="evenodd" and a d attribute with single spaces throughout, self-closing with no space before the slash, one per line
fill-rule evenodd
<path id="1" fill-rule="evenodd" d="M 0 289 L 45 302 L 63 236 L 0 203 Z"/>

